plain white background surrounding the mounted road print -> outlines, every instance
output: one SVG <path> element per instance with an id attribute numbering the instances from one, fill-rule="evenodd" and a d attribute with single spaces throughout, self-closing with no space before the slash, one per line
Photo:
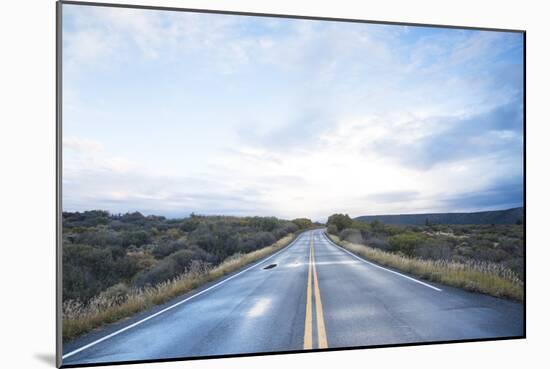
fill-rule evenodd
<path id="1" fill-rule="evenodd" d="M 546 362 L 549 25 L 543 1 L 203 0 L 132 3 L 527 30 L 527 340 L 133 365 L 132 368 L 518 368 Z M 54 366 L 55 3 L 0 11 L 0 366 Z M 537 364 L 534 364 L 537 365 Z"/>

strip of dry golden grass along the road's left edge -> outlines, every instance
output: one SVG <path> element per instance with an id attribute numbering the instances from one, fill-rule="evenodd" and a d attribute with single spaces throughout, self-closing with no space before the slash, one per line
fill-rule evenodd
<path id="1" fill-rule="evenodd" d="M 243 266 L 262 259 L 287 246 L 294 239 L 290 234 L 271 246 L 247 254 L 236 254 L 218 266 L 211 268 L 199 262 L 192 263 L 189 270 L 176 278 L 155 286 L 141 289 L 117 285 L 115 293 L 102 293 L 88 303 L 68 300 L 63 302 L 63 339 L 73 339 L 103 325 L 132 316 L 140 311 L 162 304 L 168 300 L 213 281 Z M 113 291 L 113 290 L 111 290 Z"/>

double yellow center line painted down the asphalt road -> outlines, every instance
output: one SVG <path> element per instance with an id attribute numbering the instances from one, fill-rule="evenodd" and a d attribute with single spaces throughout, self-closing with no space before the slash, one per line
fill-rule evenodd
<path id="1" fill-rule="evenodd" d="M 313 294 L 313 297 L 312 297 Z M 309 241 L 309 269 L 307 275 L 307 300 L 306 300 L 306 321 L 304 328 L 304 349 L 313 348 L 313 304 L 315 303 L 315 320 L 317 322 L 317 348 L 327 348 L 327 332 L 325 331 L 325 318 L 323 316 L 323 304 L 321 302 L 321 291 L 317 279 L 317 268 L 315 267 L 315 249 L 313 247 L 313 236 Z"/>

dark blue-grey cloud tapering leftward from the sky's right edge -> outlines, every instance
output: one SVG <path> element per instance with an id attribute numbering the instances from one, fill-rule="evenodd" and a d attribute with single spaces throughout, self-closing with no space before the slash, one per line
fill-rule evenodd
<path id="1" fill-rule="evenodd" d="M 412 140 L 418 126 L 434 127 Z M 523 112 L 519 101 L 466 117 L 431 117 L 408 122 L 401 135 L 387 135 L 366 150 L 420 169 L 469 158 L 500 154 L 519 160 L 523 149 Z"/>

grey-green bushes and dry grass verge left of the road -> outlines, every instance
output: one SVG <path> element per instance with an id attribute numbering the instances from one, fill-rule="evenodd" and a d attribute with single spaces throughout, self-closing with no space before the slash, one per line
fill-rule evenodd
<path id="1" fill-rule="evenodd" d="M 63 214 L 63 338 L 164 303 L 288 245 L 311 221 Z"/>

